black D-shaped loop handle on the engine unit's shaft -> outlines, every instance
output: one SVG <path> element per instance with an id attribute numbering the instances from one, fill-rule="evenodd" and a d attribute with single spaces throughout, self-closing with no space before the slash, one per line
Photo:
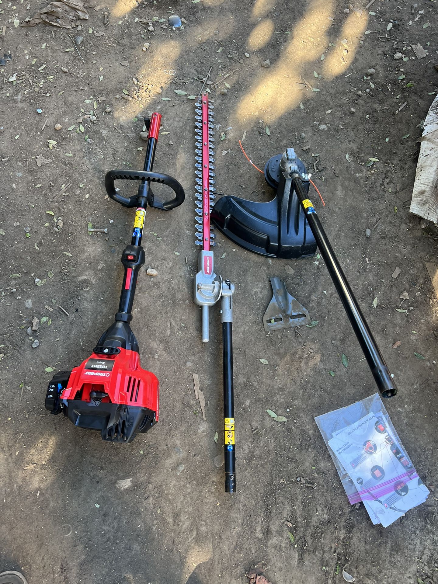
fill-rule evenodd
<path id="1" fill-rule="evenodd" d="M 146 172 L 146 171 L 109 171 L 105 175 L 105 189 L 108 196 L 111 197 L 117 203 L 120 203 L 124 207 L 137 207 L 138 205 L 138 195 L 134 194 L 132 197 L 124 197 L 122 194 L 116 192 L 116 187 L 114 187 L 114 180 L 148 180 L 150 182 L 158 182 L 163 185 L 171 187 L 175 193 L 173 199 L 167 201 L 162 200 L 160 197 L 154 196 L 150 191 L 150 196 L 148 197 L 148 203 L 151 207 L 157 209 L 162 209 L 164 211 L 169 211 L 175 207 L 178 207 L 184 202 L 185 193 L 183 187 L 180 185 L 178 180 L 174 179 L 169 175 L 162 175 L 159 172 Z"/>

